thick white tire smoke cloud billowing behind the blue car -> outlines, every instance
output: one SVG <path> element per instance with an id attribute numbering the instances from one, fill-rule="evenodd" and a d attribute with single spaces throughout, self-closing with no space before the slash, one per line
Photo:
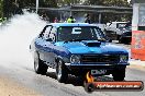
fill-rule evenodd
<path id="1" fill-rule="evenodd" d="M 35 13 L 25 12 L 13 16 L 0 29 L 0 65 L 15 63 L 32 67 L 33 58 L 29 47 L 31 41 L 43 29 L 46 22 Z"/>

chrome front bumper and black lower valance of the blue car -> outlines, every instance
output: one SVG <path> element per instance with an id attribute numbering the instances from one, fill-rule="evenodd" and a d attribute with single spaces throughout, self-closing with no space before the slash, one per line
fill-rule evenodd
<path id="1" fill-rule="evenodd" d="M 103 75 L 112 74 L 116 69 L 125 69 L 130 63 L 118 63 L 118 64 L 71 64 L 65 63 L 69 72 L 75 75 L 85 75 L 91 70 L 107 70 Z"/>

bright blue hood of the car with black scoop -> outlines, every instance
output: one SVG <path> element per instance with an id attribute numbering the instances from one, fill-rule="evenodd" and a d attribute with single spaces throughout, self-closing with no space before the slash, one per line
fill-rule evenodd
<path id="1" fill-rule="evenodd" d="M 96 40 L 60 41 L 56 45 L 65 47 L 71 53 L 127 53 L 122 47 Z"/>

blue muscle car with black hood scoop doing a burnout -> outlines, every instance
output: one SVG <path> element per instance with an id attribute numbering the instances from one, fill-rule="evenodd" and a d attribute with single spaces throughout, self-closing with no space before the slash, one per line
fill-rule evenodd
<path id="1" fill-rule="evenodd" d="M 110 75 L 123 81 L 129 65 L 129 53 L 111 45 L 101 29 L 87 23 L 51 23 L 32 41 L 34 70 L 46 74 L 48 67 L 56 69 L 58 82 L 66 82 L 68 74 L 85 77 Z"/>

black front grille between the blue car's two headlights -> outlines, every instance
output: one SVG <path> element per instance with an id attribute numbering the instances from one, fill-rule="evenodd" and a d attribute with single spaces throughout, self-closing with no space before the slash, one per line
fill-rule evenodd
<path id="1" fill-rule="evenodd" d="M 119 55 L 87 55 L 81 57 L 82 63 L 118 63 Z"/>

